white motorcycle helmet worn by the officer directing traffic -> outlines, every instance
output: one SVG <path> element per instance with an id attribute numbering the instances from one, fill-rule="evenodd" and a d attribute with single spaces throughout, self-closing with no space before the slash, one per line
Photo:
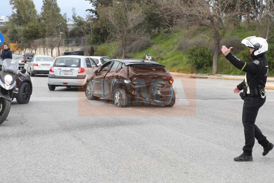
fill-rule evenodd
<path id="1" fill-rule="evenodd" d="M 259 57 L 268 50 L 267 40 L 262 37 L 250 36 L 243 39 L 242 44 L 247 47 L 255 48 L 251 53 L 251 58 Z"/>

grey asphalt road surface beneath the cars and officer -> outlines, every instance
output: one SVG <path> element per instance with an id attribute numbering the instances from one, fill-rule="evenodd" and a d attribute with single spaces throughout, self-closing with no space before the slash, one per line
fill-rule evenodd
<path id="1" fill-rule="evenodd" d="M 274 151 L 235 162 L 244 145 L 235 80 L 175 77 L 173 107 L 87 101 L 32 77 L 28 104 L 12 101 L 0 126 L 1 182 L 273 182 Z M 256 124 L 274 142 L 274 91 Z"/>

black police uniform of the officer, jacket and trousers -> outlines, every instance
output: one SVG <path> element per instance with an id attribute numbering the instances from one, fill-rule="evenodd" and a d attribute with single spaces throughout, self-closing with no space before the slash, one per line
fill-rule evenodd
<path id="1" fill-rule="evenodd" d="M 265 54 L 255 58 L 251 62 L 243 62 L 229 53 L 226 58 L 238 69 L 246 72 L 247 83 L 250 88 L 250 94 L 244 97 L 243 103 L 243 126 L 245 136 L 245 146 L 243 146 L 243 153 L 251 156 L 255 139 L 264 148 L 268 146 L 267 138 L 262 134 L 262 131 L 255 125 L 255 120 L 259 111 L 259 108 L 266 101 L 266 97 L 261 98 L 261 92 L 264 91 L 264 87 L 267 81 L 268 64 Z M 255 77 L 256 76 L 256 77 Z M 255 77 L 255 78 L 254 78 Z M 254 79 L 253 79 L 254 78 Z M 241 82 L 237 88 L 243 90 L 245 82 Z"/>

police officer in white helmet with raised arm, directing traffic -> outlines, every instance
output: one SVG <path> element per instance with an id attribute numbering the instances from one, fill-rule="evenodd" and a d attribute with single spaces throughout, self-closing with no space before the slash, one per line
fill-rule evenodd
<path id="1" fill-rule="evenodd" d="M 268 50 L 268 44 L 262 37 L 251 36 L 243 39 L 242 44 L 250 47 L 250 55 L 253 59 L 251 62 L 243 62 L 230 53 L 230 50 L 222 46 L 222 52 L 225 57 L 238 69 L 246 72 L 246 78 L 235 89 L 234 93 L 239 93 L 241 90 L 241 98 L 243 103 L 243 127 L 245 146 L 243 146 L 243 154 L 234 158 L 234 161 L 253 161 L 252 149 L 255 143 L 255 138 L 263 147 L 262 156 L 267 155 L 274 147 L 262 131 L 255 125 L 255 120 L 259 108 L 266 101 L 266 93 L 264 90 L 267 74 L 268 64 L 265 53 Z"/>

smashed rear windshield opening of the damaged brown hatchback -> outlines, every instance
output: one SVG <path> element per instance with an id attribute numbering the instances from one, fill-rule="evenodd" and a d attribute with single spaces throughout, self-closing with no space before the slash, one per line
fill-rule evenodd
<path id="1" fill-rule="evenodd" d="M 153 64 L 133 64 L 129 66 L 135 74 L 152 74 L 152 73 L 165 73 L 166 68 L 161 65 Z"/>

